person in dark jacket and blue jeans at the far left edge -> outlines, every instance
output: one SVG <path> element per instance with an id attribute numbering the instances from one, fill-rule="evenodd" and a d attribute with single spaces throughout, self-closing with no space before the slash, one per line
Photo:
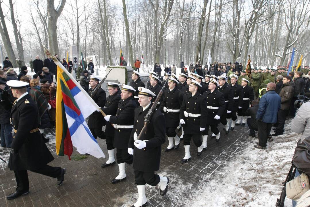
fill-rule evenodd
<path id="1" fill-rule="evenodd" d="M 5 82 L 0 80 L 0 124 L 1 124 L 1 146 L 11 148 L 13 141 L 12 125 L 10 123 L 10 112 L 13 98 L 5 89 Z"/>

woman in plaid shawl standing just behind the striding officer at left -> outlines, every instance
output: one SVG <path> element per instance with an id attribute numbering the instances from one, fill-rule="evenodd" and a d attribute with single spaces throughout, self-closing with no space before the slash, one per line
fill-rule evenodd
<path id="1" fill-rule="evenodd" d="M 48 108 L 50 107 L 47 103 L 47 100 L 44 96 L 44 94 L 41 91 L 40 88 L 41 83 L 38 79 L 32 79 L 30 81 L 31 90 L 29 92 L 30 97 L 33 99 L 33 101 L 36 103 L 38 110 L 39 110 L 39 130 L 41 133 L 41 136 L 44 140 L 44 142 L 48 142 L 49 139 L 46 139 L 43 136 L 44 129 L 50 127 L 50 115 L 48 113 Z"/>

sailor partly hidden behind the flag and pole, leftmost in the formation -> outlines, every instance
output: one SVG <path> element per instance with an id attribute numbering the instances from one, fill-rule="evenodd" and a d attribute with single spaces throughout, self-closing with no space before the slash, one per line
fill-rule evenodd
<path id="1" fill-rule="evenodd" d="M 93 92 L 95 87 L 99 84 L 100 79 L 94 75 L 90 75 L 89 78 L 89 86 L 91 88 L 89 89 L 88 94 L 98 106 L 104 107 L 107 97 L 105 91 L 101 87 L 99 87 L 96 92 Z M 104 122 L 105 121 L 103 115 L 98 111 L 93 112 L 89 116 L 87 125 L 95 139 L 97 139 L 97 137 L 99 137 L 100 139 L 105 139 L 104 132 L 102 131 Z"/>

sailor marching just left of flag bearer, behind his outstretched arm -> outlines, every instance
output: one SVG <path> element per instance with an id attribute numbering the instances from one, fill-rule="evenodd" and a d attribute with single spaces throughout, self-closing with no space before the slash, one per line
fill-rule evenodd
<path id="1" fill-rule="evenodd" d="M 121 100 L 121 92 L 118 87 L 118 84 L 113 82 L 108 82 L 108 91 L 109 96 L 102 110 L 106 115 L 115 116 L 118 107 L 118 102 Z M 104 164 L 101 165 L 101 167 L 103 168 L 115 164 L 115 157 L 114 157 L 115 147 L 113 146 L 114 132 L 115 128 L 113 127 L 112 124 L 108 123 L 105 125 L 104 135 L 105 135 L 105 142 L 107 143 L 109 158 Z"/>

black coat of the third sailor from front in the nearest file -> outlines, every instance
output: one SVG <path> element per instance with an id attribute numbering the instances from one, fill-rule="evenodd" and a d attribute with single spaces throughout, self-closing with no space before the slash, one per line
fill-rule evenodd
<path id="1" fill-rule="evenodd" d="M 206 124 L 208 125 L 214 125 L 219 124 L 221 121 L 220 119 L 215 119 L 215 115 L 218 115 L 219 117 L 222 116 L 222 114 L 225 111 L 225 99 L 224 94 L 222 92 L 219 92 L 217 88 L 211 93 L 211 91 L 207 91 L 203 93 L 203 96 L 206 97 L 206 110 L 207 110 L 207 121 Z M 208 109 L 208 106 L 213 107 L 219 107 L 218 109 Z M 205 128 L 205 127 L 203 127 Z"/>

